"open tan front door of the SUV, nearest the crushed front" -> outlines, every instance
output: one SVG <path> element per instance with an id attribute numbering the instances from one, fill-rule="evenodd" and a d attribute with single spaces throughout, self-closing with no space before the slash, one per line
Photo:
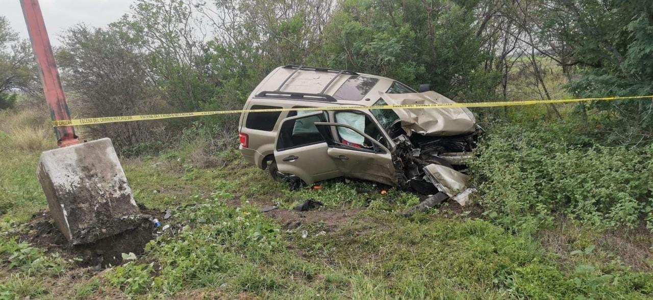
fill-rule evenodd
<path id="1" fill-rule="evenodd" d="M 397 177 L 390 150 L 357 128 L 342 123 L 315 123 L 327 141 L 327 154 L 345 177 L 396 186 Z M 357 136 L 362 143 L 348 143 L 341 138 Z M 334 138 L 335 137 L 335 138 Z"/>

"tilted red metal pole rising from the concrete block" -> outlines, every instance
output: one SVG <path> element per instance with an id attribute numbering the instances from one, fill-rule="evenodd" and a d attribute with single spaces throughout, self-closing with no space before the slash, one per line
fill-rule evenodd
<path id="1" fill-rule="evenodd" d="M 50 116 L 52 120 L 56 121 L 69 120 L 71 114 L 68 111 L 66 97 L 61 87 L 59 71 L 54 61 L 50 38 L 48 38 L 48 32 L 43 22 L 39 0 L 20 0 L 20 4 L 23 7 L 23 15 L 25 16 L 25 23 L 27 23 L 29 39 L 32 41 L 34 56 L 39 65 L 45 100 L 50 106 Z M 59 147 L 79 143 L 72 126 L 55 127 L 54 131 L 57 135 L 57 145 Z"/>

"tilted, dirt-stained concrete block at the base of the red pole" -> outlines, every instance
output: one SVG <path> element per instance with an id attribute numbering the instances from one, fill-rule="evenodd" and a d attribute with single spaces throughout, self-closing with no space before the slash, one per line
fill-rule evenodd
<path id="1" fill-rule="evenodd" d="M 57 228 L 74 245 L 93 243 L 142 222 L 108 138 L 44 151 L 37 177 Z"/>

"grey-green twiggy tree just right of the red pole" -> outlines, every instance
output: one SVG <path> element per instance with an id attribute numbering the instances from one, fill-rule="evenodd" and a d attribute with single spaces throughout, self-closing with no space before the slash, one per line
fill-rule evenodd
<path id="1" fill-rule="evenodd" d="M 118 27 L 76 25 L 62 38 L 57 52 L 73 112 L 84 117 L 163 113 L 163 101 L 153 91 L 146 57 Z M 159 138 L 161 123 L 130 122 L 86 127 L 94 138 L 108 137 L 118 147 Z M 159 130 L 161 131 L 161 130 Z"/>

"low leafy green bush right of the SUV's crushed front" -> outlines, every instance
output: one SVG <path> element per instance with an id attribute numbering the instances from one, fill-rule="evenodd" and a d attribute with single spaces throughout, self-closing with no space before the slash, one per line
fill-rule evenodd
<path id="1" fill-rule="evenodd" d="M 596 145 L 572 125 L 503 125 L 479 153 L 472 168 L 481 205 L 509 228 L 548 226 L 558 216 L 598 228 L 653 219 L 652 145 Z"/>

